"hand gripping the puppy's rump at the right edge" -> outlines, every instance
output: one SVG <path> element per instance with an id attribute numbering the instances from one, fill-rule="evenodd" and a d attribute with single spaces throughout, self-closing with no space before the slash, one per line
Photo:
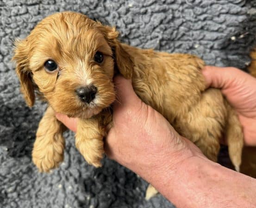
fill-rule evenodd
<path id="1" fill-rule="evenodd" d="M 206 66 L 207 87 L 220 88 L 237 112 L 244 129 L 244 144 L 256 146 L 256 79 L 233 67 Z"/>

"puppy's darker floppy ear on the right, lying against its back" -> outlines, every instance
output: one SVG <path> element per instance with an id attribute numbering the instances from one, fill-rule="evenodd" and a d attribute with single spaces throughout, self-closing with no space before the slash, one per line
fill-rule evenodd
<path id="1" fill-rule="evenodd" d="M 108 41 L 110 47 L 113 50 L 115 67 L 126 79 L 131 79 L 133 62 L 131 60 L 131 56 L 128 54 L 128 52 L 125 51 L 125 49 L 122 47 L 122 44 L 117 39 L 119 35 L 118 31 L 116 31 L 114 27 L 102 27 L 103 33 L 105 33 L 106 40 Z"/>

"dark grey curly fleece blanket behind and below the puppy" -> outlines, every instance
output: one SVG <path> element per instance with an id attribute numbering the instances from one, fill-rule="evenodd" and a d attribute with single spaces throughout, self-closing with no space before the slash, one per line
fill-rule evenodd
<path id="1" fill-rule="evenodd" d="M 256 0 L 0 0 L 0 207 L 174 207 L 161 195 L 145 201 L 147 183 L 109 159 L 102 168 L 88 166 L 70 132 L 60 168 L 44 174 L 32 164 L 46 105 L 26 107 L 12 43 L 42 18 L 66 10 L 116 25 L 120 39 L 133 46 L 192 53 L 207 64 L 244 69 L 256 43 Z"/>

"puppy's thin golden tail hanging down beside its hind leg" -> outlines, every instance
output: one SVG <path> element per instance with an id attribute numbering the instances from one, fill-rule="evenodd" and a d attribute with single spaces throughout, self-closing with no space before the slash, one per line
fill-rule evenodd
<path id="1" fill-rule="evenodd" d="M 225 105 L 228 111 L 225 136 L 229 150 L 229 157 L 235 166 L 236 171 L 239 172 L 244 146 L 243 128 L 235 110 L 230 106 L 230 104 L 228 104 L 227 101 L 225 101 Z"/>

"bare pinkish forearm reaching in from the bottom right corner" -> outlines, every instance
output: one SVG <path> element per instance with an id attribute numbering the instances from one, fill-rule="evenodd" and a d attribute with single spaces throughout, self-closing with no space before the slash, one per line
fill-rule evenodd
<path id="1" fill-rule="evenodd" d="M 256 179 L 204 157 L 154 172 L 145 179 L 177 207 L 256 207 Z"/>

